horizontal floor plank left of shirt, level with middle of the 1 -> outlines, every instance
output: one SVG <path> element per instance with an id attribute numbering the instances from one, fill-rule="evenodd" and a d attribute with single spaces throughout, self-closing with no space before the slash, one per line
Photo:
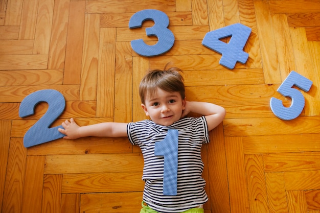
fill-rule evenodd
<path id="1" fill-rule="evenodd" d="M 142 154 L 47 155 L 44 165 L 44 174 L 141 172 L 142 170 Z"/>

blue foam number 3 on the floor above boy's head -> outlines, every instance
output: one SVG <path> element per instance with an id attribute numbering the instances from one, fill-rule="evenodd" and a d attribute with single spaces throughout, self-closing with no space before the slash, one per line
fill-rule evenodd
<path id="1" fill-rule="evenodd" d="M 166 13 L 159 10 L 142 10 L 133 14 L 129 20 L 129 28 L 141 28 L 146 20 L 153 20 L 154 26 L 146 28 L 147 36 L 156 36 L 158 42 L 154 45 L 146 44 L 143 39 L 131 41 L 132 49 L 142 56 L 157 56 L 168 52 L 174 43 L 174 35 L 168 29 L 169 18 Z"/>

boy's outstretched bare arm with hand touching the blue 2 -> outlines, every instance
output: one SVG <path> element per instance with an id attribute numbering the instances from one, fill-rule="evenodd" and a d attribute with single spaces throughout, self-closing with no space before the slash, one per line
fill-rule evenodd
<path id="1" fill-rule="evenodd" d="M 62 123 L 64 129 L 59 132 L 65 134 L 65 139 L 77 139 L 86 136 L 98 137 L 127 137 L 127 123 L 106 122 L 88 126 L 78 126 L 74 119 Z"/>

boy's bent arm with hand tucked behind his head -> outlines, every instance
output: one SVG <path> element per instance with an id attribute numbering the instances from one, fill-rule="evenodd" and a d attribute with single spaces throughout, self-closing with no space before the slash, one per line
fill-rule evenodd
<path id="1" fill-rule="evenodd" d="M 205 120 L 207 120 L 208 131 L 217 127 L 225 116 L 225 109 L 223 107 L 207 102 L 186 101 L 185 110 L 182 113 L 182 117 L 186 116 L 190 112 L 205 116 Z"/>

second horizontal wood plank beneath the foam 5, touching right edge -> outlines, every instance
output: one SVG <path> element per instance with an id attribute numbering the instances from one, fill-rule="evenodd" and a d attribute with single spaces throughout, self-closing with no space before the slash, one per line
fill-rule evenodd
<path id="1" fill-rule="evenodd" d="M 320 134 L 287 134 L 243 137 L 245 154 L 320 151 Z"/>

